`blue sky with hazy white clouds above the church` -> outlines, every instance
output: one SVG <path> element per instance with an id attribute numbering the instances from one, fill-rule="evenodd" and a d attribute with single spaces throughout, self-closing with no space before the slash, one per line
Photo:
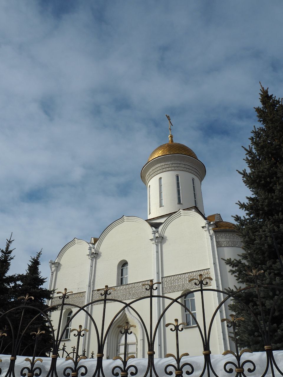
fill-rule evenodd
<path id="1" fill-rule="evenodd" d="M 186 144 L 205 164 L 206 215 L 232 221 L 248 190 L 241 146 L 259 81 L 283 95 L 282 1 L 0 2 L 0 245 L 42 271 L 74 237 L 146 218 L 140 170 Z"/>

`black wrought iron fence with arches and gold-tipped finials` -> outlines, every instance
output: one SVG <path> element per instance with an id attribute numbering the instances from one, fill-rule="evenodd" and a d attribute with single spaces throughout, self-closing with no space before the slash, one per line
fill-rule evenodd
<path id="1" fill-rule="evenodd" d="M 61 376 L 64 375 L 65 377 L 69 377 L 70 375 L 75 376 L 103 376 L 107 377 L 108 375 L 112 376 L 135 376 L 135 375 L 142 375 L 142 376 L 156 376 L 156 377 L 163 377 L 165 375 L 172 375 L 173 373 L 175 375 L 198 375 L 199 377 L 202 376 L 215 376 L 218 377 L 219 373 L 215 370 L 212 362 L 212 355 L 211 355 L 211 337 L 212 337 L 212 326 L 213 323 L 215 323 L 215 318 L 217 316 L 217 313 L 219 313 L 219 310 L 227 303 L 227 300 L 234 299 L 241 303 L 242 307 L 245 309 L 247 313 L 250 314 L 250 318 L 256 323 L 258 326 L 258 331 L 260 332 L 265 352 L 265 368 L 263 371 L 257 369 L 257 365 L 255 365 L 254 361 L 251 359 L 246 358 L 247 352 L 252 352 L 250 349 L 240 349 L 238 346 L 238 333 L 237 328 L 241 326 L 241 322 L 244 320 L 243 317 L 235 317 L 235 315 L 231 314 L 230 318 L 224 318 L 221 321 L 226 322 L 227 327 L 231 331 L 231 335 L 234 340 L 234 351 L 226 350 L 223 352 L 223 355 L 231 355 L 232 359 L 229 359 L 227 361 L 226 358 L 223 359 L 223 371 L 227 375 L 234 375 L 235 377 L 246 377 L 249 374 L 251 375 L 257 375 L 258 377 L 264 377 L 266 375 L 271 375 L 273 377 L 277 375 L 283 376 L 283 371 L 280 370 L 278 366 L 278 361 L 275 360 L 274 357 L 274 351 L 272 350 L 272 319 L 274 318 L 275 311 L 278 311 L 278 303 L 280 300 L 282 300 L 283 296 L 283 288 L 275 285 L 263 285 L 261 284 L 259 280 L 260 274 L 263 273 L 263 271 L 257 271 L 255 269 L 252 269 L 252 271 L 249 272 L 251 276 L 251 285 L 249 287 L 242 288 L 236 292 L 233 293 L 227 293 L 226 291 L 220 291 L 213 289 L 208 286 L 209 280 L 212 280 L 211 277 L 204 277 L 201 274 L 198 276 L 198 279 L 190 279 L 189 282 L 194 280 L 194 284 L 196 289 L 194 290 L 194 293 L 200 294 L 200 300 L 201 300 L 201 321 L 197 319 L 197 317 L 194 315 L 194 313 L 190 310 L 190 308 L 186 307 L 185 302 L 183 300 L 186 293 L 181 294 L 177 298 L 172 298 L 169 296 L 163 296 L 156 294 L 157 291 L 157 285 L 161 284 L 160 282 L 153 282 L 150 280 L 149 284 L 143 284 L 143 287 L 141 289 L 144 289 L 148 291 L 148 296 L 139 297 L 137 299 L 131 300 L 130 302 L 123 302 L 121 300 L 117 300 L 114 298 L 111 298 L 111 292 L 115 288 L 109 288 L 107 285 L 105 288 L 100 291 L 100 299 L 94 300 L 86 305 L 79 306 L 75 305 L 74 303 L 66 303 L 66 299 L 68 299 L 68 295 L 72 292 L 68 292 L 67 289 L 63 292 L 57 292 L 57 294 L 60 295 L 60 303 L 57 303 L 56 305 L 51 305 L 48 307 L 45 311 L 38 310 L 36 307 L 32 306 L 32 297 L 30 297 L 28 294 L 26 297 L 21 297 L 22 304 L 19 305 L 16 308 L 13 308 L 6 313 L 0 312 L 0 320 L 5 319 L 6 321 L 6 327 L 2 331 L 0 331 L 0 354 L 5 353 L 5 349 L 7 349 L 8 345 L 11 346 L 11 356 L 9 356 L 9 365 L 6 368 L 7 370 L 3 372 L 1 370 L 1 363 L 0 363 L 0 376 L 6 377 L 6 376 L 13 376 L 16 377 L 15 374 L 15 365 L 17 357 L 20 355 L 23 355 L 25 353 L 25 349 L 20 351 L 21 342 L 24 336 L 29 332 L 29 328 L 32 325 L 32 322 L 36 319 L 38 320 L 38 317 L 42 317 L 44 321 L 50 326 L 51 329 L 51 343 L 50 346 L 47 348 L 40 350 L 38 349 L 38 342 L 41 339 L 43 335 L 43 331 L 38 328 L 38 331 L 33 331 L 31 333 L 31 344 L 33 346 L 33 354 L 31 357 L 26 357 L 25 361 L 29 363 L 27 366 L 23 366 L 23 368 L 20 370 L 20 375 L 22 377 L 28 376 L 28 377 L 49 377 L 49 376 Z M 188 282 L 188 283 L 189 283 Z M 263 311 L 263 303 L 261 299 L 261 290 L 268 289 L 270 291 L 274 291 L 274 302 L 271 305 L 269 317 L 266 318 L 266 315 Z M 246 291 L 250 290 L 253 293 L 255 293 L 255 297 L 257 297 L 258 302 L 258 309 L 260 313 L 260 317 L 256 315 L 251 308 L 246 305 L 244 302 L 241 301 L 241 294 Z M 221 294 L 223 300 L 219 303 L 216 310 L 213 312 L 212 317 L 210 320 L 207 318 L 207 311 L 205 310 L 205 298 L 204 293 L 207 294 L 208 292 Z M 135 309 L 134 304 L 137 302 L 142 302 L 143 300 L 149 301 L 149 313 L 148 313 L 148 322 L 149 326 L 147 328 L 145 324 L 145 320 L 141 316 L 140 313 Z M 165 307 L 159 318 L 157 319 L 156 323 L 154 323 L 154 300 L 169 300 L 168 305 Z M 118 310 L 117 313 L 113 316 L 113 319 L 110 321 L 108 325 L 105 325 L 105 314 L 106 311 L 109 310 L 108 303 L 109 302 L 118 302 L 121 305 L 120 310 Z M 88 308 L 90 305 L 95 305 L 101 303 L 102 304 L 102 316 L 100 318 L 95 318 L 94 316 L 91 316 L 91 314 L 88 311 Z M 186 325 L 186 323 L 181 322 L 181 319 L 174 319 L 170 323 L 166 323 L 165 325 L 165 331 L 171 331 L 171 334 L 174 333 L 174 344 L 175 344 L 175 354 L 169 353 L 166 354 L 165 358 L 168 358 L 169 362 L 165 365 L 162 374 L 157 371 L 156 368 L 156 359 L 155 359 L 155 350 L 156 350 L 156 339 L 158 334 L 158 328 L 163 325 L 163 319 L 165 318 L 165 314 L 169 313 L 169 309 L 172 307 L 172 305 L 180 305 L 183 310 L 185 310 L 187 313 L 191 315 L 195 322 L 195 326 L 198 329 L 198 334 L 201 339 L 202 344 L 202 354 L 203 354 L 203 367 L 202 371 L 200 373 L 195 371 L 195 365 L 193 361 L 188 359 L 189 356 L 188 352 L 184 352 L 180 354 L 180 347 L 179 347 L 179 337 L 181 336 L 181 332 L 183 331 L 183 326 Z M 76 312 L 72 315 L 71 319 L 67 320 L 66 323 L 63 321 L 63 311 L 68 308 L 73 307 L 76 308 Z M 25 311 L 29 308 L 29 310 L 34 310 L 35 315 L 34 318 L 28 323 L 28 325 L 25 326 L 25 328 L 22 328 L 22 324 L 24 323 L 23 318 L 25 316 Z M 127 356 L 127 338 L 129 335 L 131 335 L 132 331 L 131 329 L 135 326 L 133 326 L 129 322 L 125 322 L 125 324 L 119 325 L 118 327 L 121 329 L 120 334 L 125 335 L 125 341 L 124 341 L 124 349 L 123 353 L 120 354 L 120 356 L 115 356 L 112 360 L 114 360 L 115 365 L 112 367 L 111 374 L 105 374 L 105 370 L 103 367 L 103 357 L 104 357 L 104 351 L 105 351 L 105 344 L 106 339 L 109 334 L 109 331 L 111 328 L 115 325 L 115 320 L 120 316 L 120 314 L 128 308 L 131 310 L 137 318 L 140 320 L 140 323 L 143 326 L 143 331 L 145 333 L 145 343 L 147 345 L 147 358 L 146 358 L 146 366 L 143 370 L 140 370 L 138 367 L 138 364 L 134 362 L 135 356 Z M 281 308 L 283 311 L 283 308 Z M 15 310 L 20 310 L 22 312 L 22 316 L 20 319 L 20 322 L 17 323 L 16 330 L 13 328 L 12 322 L 10 320 L 11 314 Z M 51 322 L 50 319 L 50 312 L 54 310 L 57 310 L 59 313 L 59 319 L 58 323 L 56 322 L 55 326 L 57 329 L 54 329 L 55 326 L 54 323 Z M 78 326 L 78 329 L 71 329 L 71 332 L 74 333 L 74 336 L 76 338 L 76 345 L 72 347 L 72 351 L 67 351 L 66 344 L 63 343 L 63 335 L 65 334 L 66 329 L 68 328 L 69 324 L 71 323 L 72 319 L 74 319 L 76 316 L 78 316 L 79 313 L 85 313 L 85 315 L 89 319 L 89 323 L 91 324 L 92 328 L 94 328 L 94 340 L 97 343 L 97 353 L 95 354 L 94 351 L 91 352 L 89 356 L 88 362 L 85 362 L 87 359 L 87 355 L 85 350 L 80 352 L 81 342 L 85 334 L 88 332 L 87 328 L 83 328 L 82 325 Z M 278 316 L 278 313 L 276 314 Z M 281 313 L 282 318 L 282 313 Z M 200 323 L 201 322 L 201 323 Z M 98 326 L 99 323 L 99 326 Z M 116 325 L 117 326 L 117 325 Z M 98 330 L 98 328 L 101 328 L 101 331 Z M 167 329 L 167 330 L 166 330 Z M 11 342 L 5 343 L 6 336 L 8 331 L 11 332 Z M 194 339 L 186 339 L 188 343 L 194 342 Z M 62 344 L 63 343 L 63 344 Z M 48 371 L 42 372 L 41 364 L 43 362 L 43 359 L 38 357 L 39 355 L 46 354 L 46 356 L 49 356 L 49 360 L 51 360 L 50 365 L 48 366 Z M 58 357 L 65 358 L 66 366 L 63 366 L 63 368 L 60 366 L 60 370 L 58 369 Z M 2 356 L 3 358 L 3 356 Z M 2 361 L 2 360 L 1 360 Z M 88 366 L 90 365 L 89 362 L 92 363 L 92 369 L 89 371 Z M 71 364 L 70 364 L 71 363 Z M 61 365 L 61 364 L 60 364 Z M 256 373 L 256 374 L 254 374 Z"/>

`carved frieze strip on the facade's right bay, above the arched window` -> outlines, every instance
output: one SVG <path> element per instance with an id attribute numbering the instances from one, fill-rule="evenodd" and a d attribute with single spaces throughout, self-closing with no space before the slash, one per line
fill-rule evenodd
<path id="1" fill-rule="evenodd" d="M 204 277 L 211 277 L 209 268 L 206 268 L 205 270 L 185 272 L 183 274 L 162 277 L 162 293 L 179 292 L 185 291 L 186 289 L 196 288 L 194 282 L 189 283 L 189 280 L 194 277 L 198 278 L 199 274 L 202 274 Z M 208 286 L 211 285 L 210 280 L 206 281 L 208 282 Z"/>

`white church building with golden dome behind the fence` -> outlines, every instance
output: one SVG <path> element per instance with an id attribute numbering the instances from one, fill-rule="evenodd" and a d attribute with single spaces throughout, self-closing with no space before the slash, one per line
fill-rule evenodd
<path id="1" fill-rule="evenodd" d="M 60 303 L 56 291 L 67 288 L 72 293 L 66 302 L 83 306 L 92 300 L 101 299 L 97 290 L 105 285 L 115 288 L 111 290 L 109 299 L 130 302 L 148 295 L 142 284 L 153 280 L 161 282 L 154 294 L 175 299 L 186 293 L 182 302 L 203 326 L 200 293 L 194 294 L 199 287 L 189 280 L 202 274 L 212 278 L 207 280 L 208 285 L 204 290 L 233 287 L 234 277 L 229 274 L 229 268 L 222 258 L 235 257 L 242 252 L 241 238 L 233 224 L 223 221 L 219 214 L 205 216 L 201 194 L 201 182 L 205 175 L 204 164 L 190 148 L 174 143 L 170 129 L 169 143 L 157 147 L 141 169 L 141 179 L 148 194 L 148 218 L 122 216 L 112 222 L 99 238 L 91 238 L 90 242 L 74 238 L 66 244 L 55 261 L 49 262 L 49 289 L 55 290 L 49 305 Z M 204 298 L 208 327 L 223 296 L 209 291 L 204 294 Z M 153 300 L 154 327 L 168 303 L 167 299 Z M 122 307 L 119 302 L 106 304 L 105 328 Z M 136 302 L 135 309 L 149 328 L 149 300 Z M 96 321 L 100 333 L 103 303 L 90 305 L 87 310 Z M 77 308 L 72 305 L 64 308 L 63 325 L 76 311 Z M 59 313 L 58 310 L 51 313 L 55 329 Z M 227 317 L 229 312 L 226 305 L 217 313 L 212 325 L 210 349 L 213 354 L 233 348 L 229 344 L 229 329 L 220 321 Z M 202 355 L 203 344 L 194 319 L 175 303 L 166 311 L 158 326 L 155 357 L 165 357 L 169 352 L 175 354 L 175 333 L 165 327 L 166 323 L 172 323 L 174 319 L 183 322 L 183 331 L 179 334 L 180 353 Z M 120 334 L 117 326 L 125 325 L 126 321 L 135 325 L 128 336 L 127 356 L 147 357 L 145 329 L 137 314 L 126 308 L 111 326 L 104 358 L 112 359 L 123 353 L 125 336 Z M 89 330 L 83 338 L 82 350 L 86 350 L 87 356 L 92 351 L 96 356 L 95 329 L 83 311 L 72 319 L 62 337 L 62 343 L 65 342 L 67 351 L 71 351 L 76 338 L 70 330 L 78 329 L 79 325 Z"/>

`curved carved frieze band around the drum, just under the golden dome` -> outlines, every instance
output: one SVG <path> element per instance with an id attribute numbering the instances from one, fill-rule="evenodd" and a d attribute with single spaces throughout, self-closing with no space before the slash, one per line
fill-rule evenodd
<path id="1" fill-rule="evenodd" d="M 201 181 L 201 172 L 198 167 L 194 164 L 191 164 L 188 161 L 164 161 L 160 162 L 148 170 L 146 173 L 146 184 L 153 178 L 155 175 L 161 174 L 163 172 L 168 172 L 169 170 L 182 170 L 184 172 L 192 173 L 196 175 Z"/>

